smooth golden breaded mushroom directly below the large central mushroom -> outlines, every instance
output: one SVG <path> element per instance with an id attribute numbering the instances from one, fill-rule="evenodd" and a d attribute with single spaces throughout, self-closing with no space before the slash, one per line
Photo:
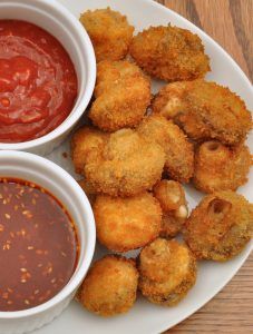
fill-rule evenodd
<path id="1" fill-rule="evenodd" d="M 159 235 L 162 209 L 146 191 L 127 198 L 98 195 L 94 215 L 97 238 L 110 250 L 136 249 Z"/>

